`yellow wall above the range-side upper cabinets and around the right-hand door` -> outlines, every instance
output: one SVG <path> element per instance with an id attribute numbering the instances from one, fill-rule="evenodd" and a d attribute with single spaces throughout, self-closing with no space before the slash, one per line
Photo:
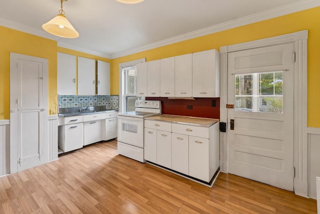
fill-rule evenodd
<path id="1" fill-rule="evenodd" d="M 226 45 L 233 45 L 268 37 L 289 34 L 296 31 L 308 30 L 308 95 L 307 113 L 308 127 L 320 127 L 319 108 L 320 99 L 320 7 L 289 14 L 282 17 L 198 37 L 195 39 L 155 48 L 137 54 L 112 60 L 112 94 L 118 94 L 119 63 L 140 58 L 146 61 L 172 57 L 192 52 L 217 49 Z"/>

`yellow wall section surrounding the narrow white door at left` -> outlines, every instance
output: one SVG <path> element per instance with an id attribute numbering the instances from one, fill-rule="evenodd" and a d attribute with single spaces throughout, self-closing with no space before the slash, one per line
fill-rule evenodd
<path id="1" fill-rule="evenodd" d="M 48 59 L 48 109 L 56 108 L 56 41 L 0 26 L 0 119 L 9 119 L 10 52 Z"/>

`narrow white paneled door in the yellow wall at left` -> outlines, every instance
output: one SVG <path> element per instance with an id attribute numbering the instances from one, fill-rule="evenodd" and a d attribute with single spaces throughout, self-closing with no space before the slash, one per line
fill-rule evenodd
<path id="1" fill-rule="evenodd" d="M 47 162 L 47 60 L 10 54 L 11 173 Z"/>

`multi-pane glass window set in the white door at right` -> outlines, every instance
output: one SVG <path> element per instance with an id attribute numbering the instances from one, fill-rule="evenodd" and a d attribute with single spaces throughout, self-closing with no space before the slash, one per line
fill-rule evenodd
<path id="1" fill-rule="evenodd" d="M 235 75 L 235 111 L 283 113 L 283 71 Z"/>

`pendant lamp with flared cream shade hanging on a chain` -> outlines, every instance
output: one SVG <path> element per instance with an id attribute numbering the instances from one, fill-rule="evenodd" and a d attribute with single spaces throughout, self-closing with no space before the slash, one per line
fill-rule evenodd
<path id="1" fill-rule="evenodd" d="M 72 27 L 69 21 L 64 16 L 62 10 L 62 2 L 67 0 L 61 0 L 61 10 L 59 14 L 51 19 L 49 22 L 42 25 L 42 29 L 50 34 L 63 38 L 77 38 L 79 33 Z"/>

